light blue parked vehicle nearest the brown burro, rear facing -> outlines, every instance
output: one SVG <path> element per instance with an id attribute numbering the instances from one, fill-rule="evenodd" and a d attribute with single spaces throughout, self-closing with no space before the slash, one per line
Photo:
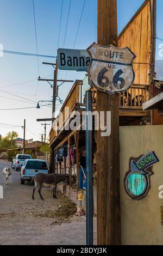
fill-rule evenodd
<path id="1" fill-rule="evenodd" d="M 37 173 L 48 174 L 48 163 L 45 160 L 27 159 L 21 168 L 21 184 L 24 184 L 25 180 L 32 180 Z"/>

